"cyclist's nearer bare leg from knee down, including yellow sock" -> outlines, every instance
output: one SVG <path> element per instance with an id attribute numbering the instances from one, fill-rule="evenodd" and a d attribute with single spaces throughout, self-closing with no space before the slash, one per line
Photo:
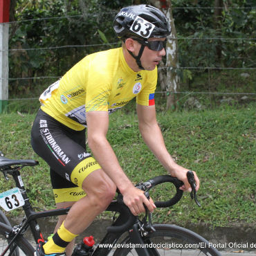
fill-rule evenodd
<path id="1" fill-rule="evenodd" d="M 93 219 L 107 208 L 116 194 L 116 185 L 103 170 L 95 170 L 86 176 L 82 189 L 87 195 L 73 204 L 62 228 L 43 246 L 46 254 L 60 253 L 60 250 L 64 252 L 62 244 L 71 240 L 65 241 L 62 238 L 69 239 L 71 235 L 75 237 L 84 231 Z M 55 244 L 56 241 L 59 244 Z"/>

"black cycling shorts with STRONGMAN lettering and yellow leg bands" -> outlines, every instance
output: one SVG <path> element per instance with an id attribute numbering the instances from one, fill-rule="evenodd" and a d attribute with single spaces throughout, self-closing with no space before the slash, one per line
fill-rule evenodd
<path id="1" fill-rule="evenodd" d="M 82 182 L 100 169 L 86 151 L 85 129 L 70 129 L 40 109 L 33 123 L 31 145 L 50 166 L 56 203 L 77 201 L 85 195 Z"/>

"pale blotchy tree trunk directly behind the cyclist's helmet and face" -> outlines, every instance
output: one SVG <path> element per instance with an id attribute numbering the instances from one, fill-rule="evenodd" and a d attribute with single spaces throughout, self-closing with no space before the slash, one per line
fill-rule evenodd
<path id="1" fill-rule="evenodd" d="M 167 109 L 176 109 L 175 93 L 179 88 L 179 77 L 176 72 L 178 65 L 178 40 L 176 39 L 176 28 L 174 26 L 174 19 L 172 17 L 172 1 L 171 0 L 151 0 L 157 8 L 161 8 L 165 13 L 167 19 L 170 20 L 172 33 L 170 38 L 167 38 L 166 44 L 166 63 L 165 66 L 159 73 L 161 81 L 161 88 L 167 91 Z M 164 84 L 163 84 L 164 83 Z"/>

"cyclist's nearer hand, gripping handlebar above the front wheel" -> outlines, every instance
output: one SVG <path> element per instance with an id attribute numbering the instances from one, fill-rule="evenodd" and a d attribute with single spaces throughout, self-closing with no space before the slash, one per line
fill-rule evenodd
<path id="1" fill-rule="evenodd" d="M 123 200 L 125 205 L 131 210 L 131 213 L 137 216 L 138 214 L 145 212 L 145 206 L 149 210 L 149 212 L 153 212 L 156 208 L 154 202 L 151 198 L 147 199 L 143 190 L 139 190 L 138 188 L 131 187 L 125 192 L 122 193 Z"/>

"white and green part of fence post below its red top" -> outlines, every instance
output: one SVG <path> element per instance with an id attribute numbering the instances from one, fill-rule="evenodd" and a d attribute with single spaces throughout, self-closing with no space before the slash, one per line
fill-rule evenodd
<path id="1" fill-rule="evenodd" d="M 0 23 L 0 113 L 6 109 L 8 100 L 8 35 L 9 24 Z"/>

